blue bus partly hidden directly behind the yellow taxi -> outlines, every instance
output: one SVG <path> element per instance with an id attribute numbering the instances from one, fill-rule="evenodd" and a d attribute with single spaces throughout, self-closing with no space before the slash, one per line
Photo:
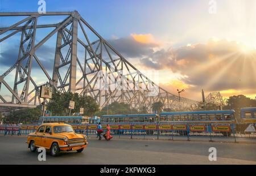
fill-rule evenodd
<path id="1" fill-rule="evenodd" d="M 39 123 L 59 123 L 68 124 L 85 124 L 89 123 L 89 118 L 86 116 L 42 116 L 39 118 Z"/>

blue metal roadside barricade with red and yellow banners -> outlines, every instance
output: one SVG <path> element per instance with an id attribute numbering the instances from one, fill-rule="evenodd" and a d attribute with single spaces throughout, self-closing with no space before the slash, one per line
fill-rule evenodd
<path id="1" fill-rule="evenodd" d="M 104 134 L 106 124 L 101 124 Z M 245 123 L 231 123 L 220 121 L 172 121 L 160 123 L 109 123 L 110 133 L 114 138 L 125 139 L 168 139 L 168 140 L 229 140 L 237 138 L 256 138 L 256 132 L 245 132 L 249 125 Z M 0 134 L 27 135 L 35 132 L 38 124 L 7 126 L 0 125 Z M 96 124 L 72 125 L 76 133 L 85 134 L 89 138 L 96 138 Z M 253 129 L 253 127 L 251 129 Z"/>

